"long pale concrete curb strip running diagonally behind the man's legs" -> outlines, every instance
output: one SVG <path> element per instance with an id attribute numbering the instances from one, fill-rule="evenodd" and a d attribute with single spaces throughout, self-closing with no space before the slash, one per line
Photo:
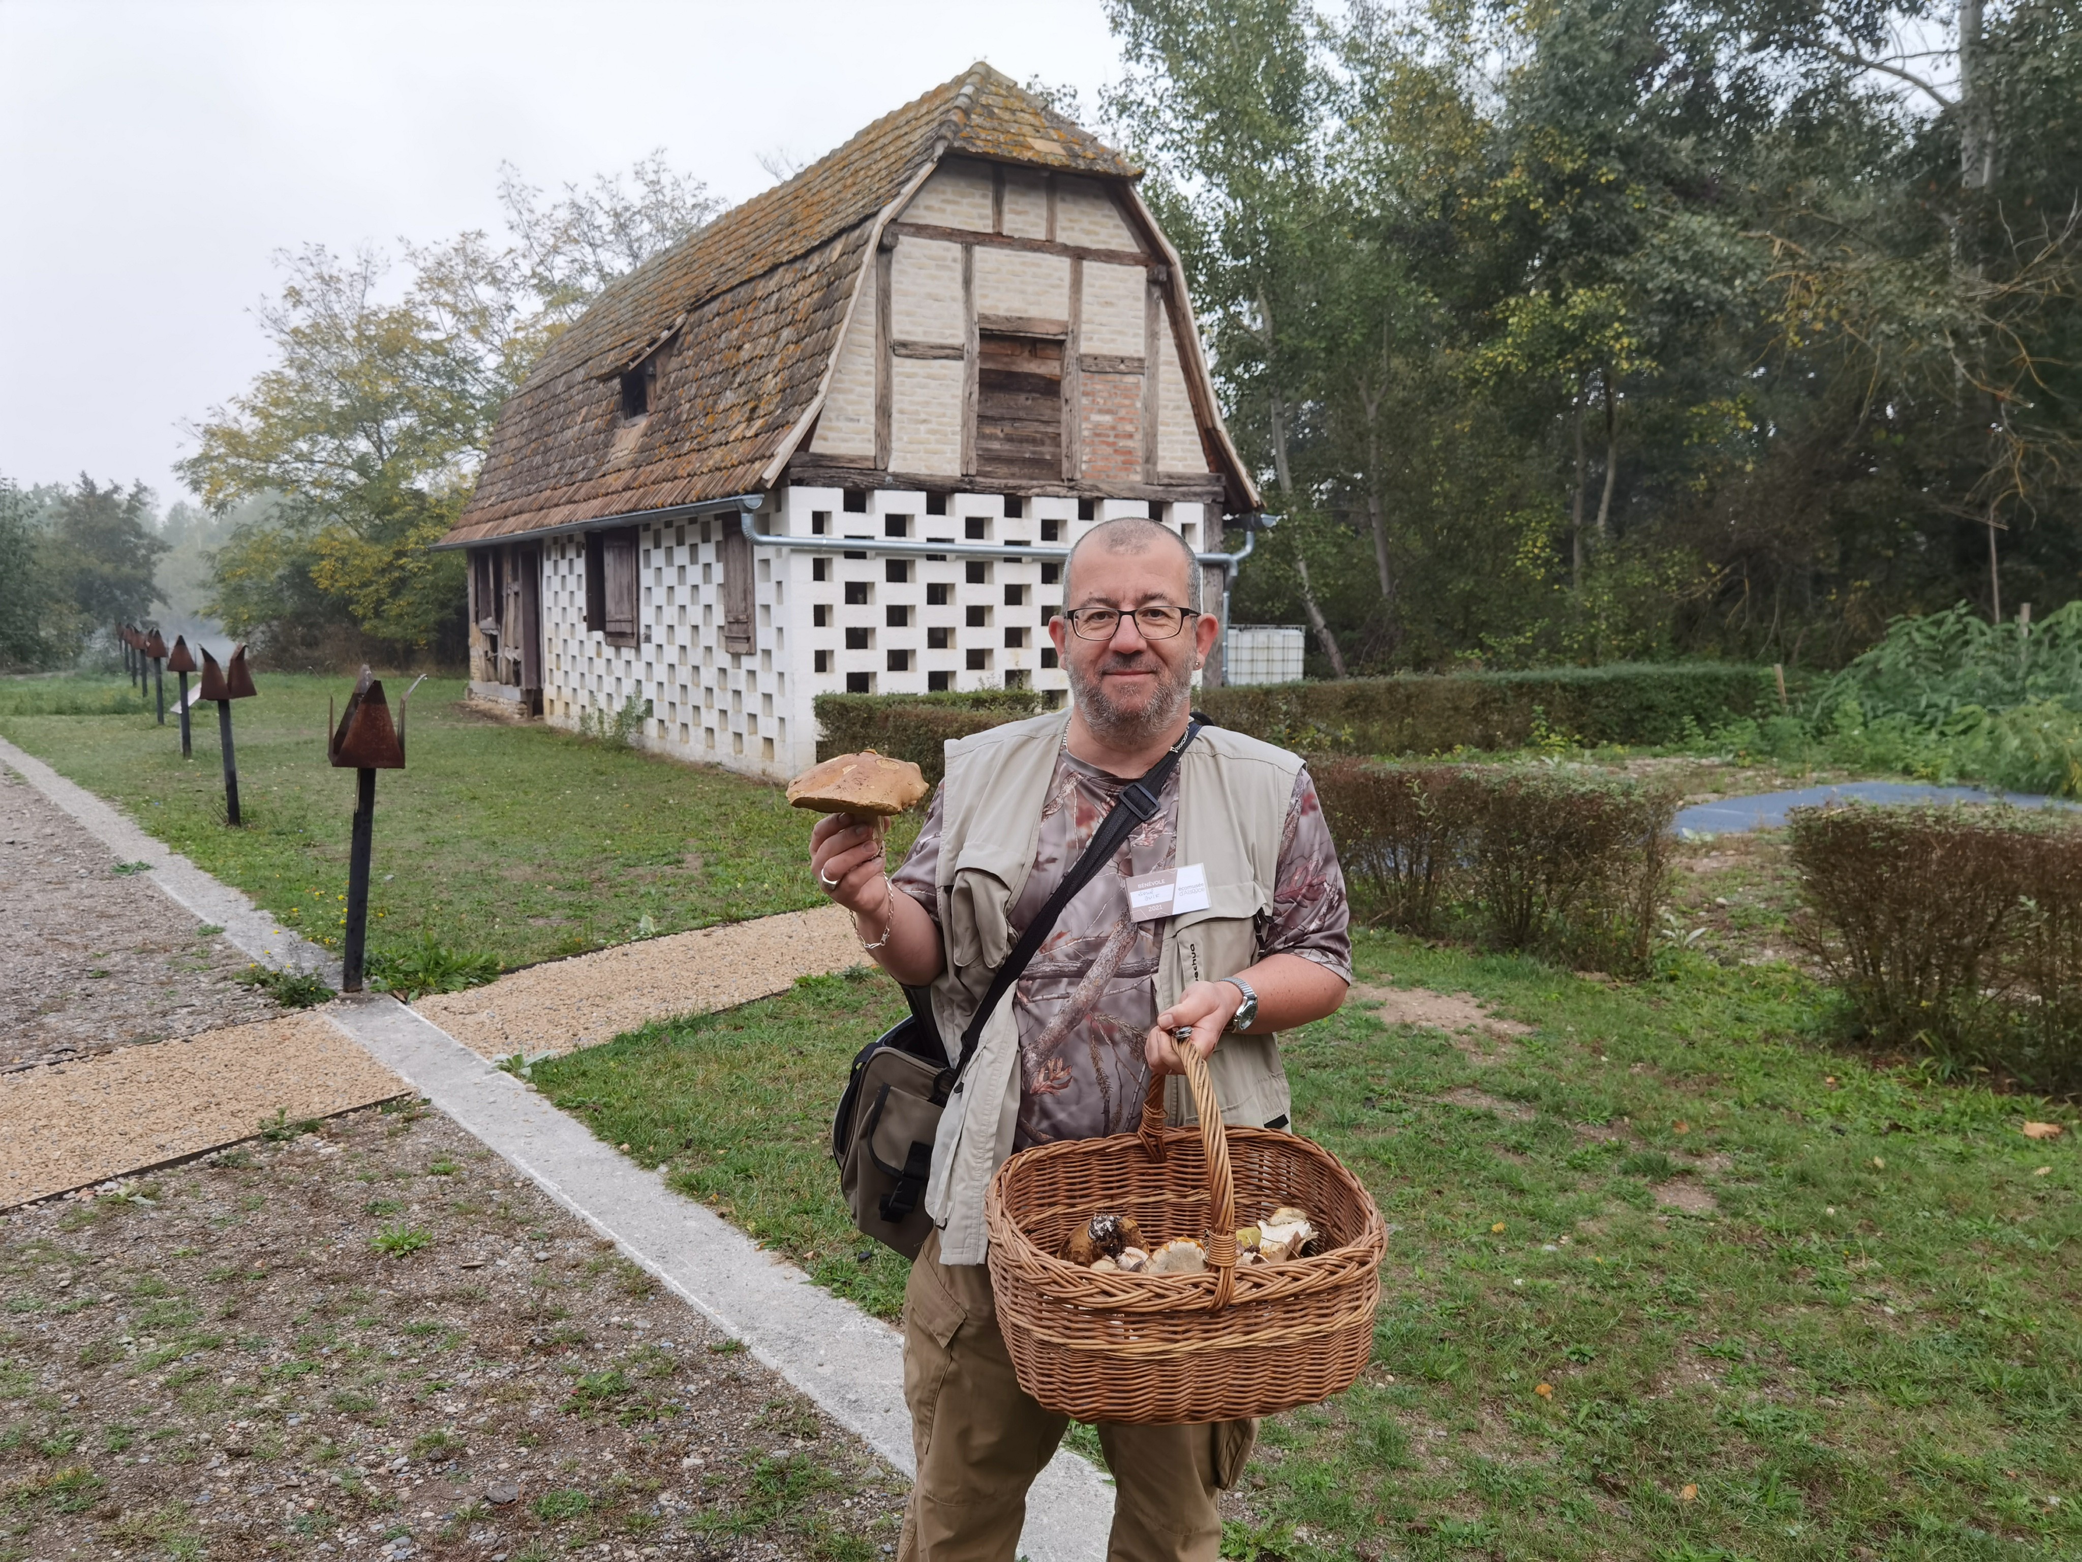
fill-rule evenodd
<path id="1" fill-rule="evenodd" d="M 167 850 L 100 798 L 0 739 L 0 760 L 125 860 L 152 862 L 171 900 L 225 929 L 269 966 L 325 971 L 325 950 L 275 927 L 246 896 Z M 337 964 L 331 977 L 337 981 Z M 904 1406 L 904 1339 L 852 1302 L 764 1252 L 712 1210 L 672 1193 L 512 1075 L 493 1068 L 404 1004 L 366 996 L 321 1010 L 377 1062 L 529 1177 L 552 1200 L 616 1243 L 722 1333 L 904 1475 L 916 1475 Z M 1029 1493 L 1020 1556 L 1095 1562 L 1106 1556 L 1112 1485 L 1060 1452 Z"/>

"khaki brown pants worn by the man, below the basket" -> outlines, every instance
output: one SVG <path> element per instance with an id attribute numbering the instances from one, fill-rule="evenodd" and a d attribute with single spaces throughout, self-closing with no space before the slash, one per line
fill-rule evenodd
<path id="1" fill-rule="evenodd" d="M 991 1273 L 939 1262 L 926 1237 L 904 1289 L 904 1400 L 918 1483 L 897 1562 L 1014 1562 L 1026 1487 L 1056 1454 L 1068 1418 L 1020 1391 L 997 1333 Z M 1255 1420 L 1214 1427 L 1099 1425 L 1114 1475 L 1108 1562 L 1216 1562 L 1214 1493 L 1235 1485 Z"/>

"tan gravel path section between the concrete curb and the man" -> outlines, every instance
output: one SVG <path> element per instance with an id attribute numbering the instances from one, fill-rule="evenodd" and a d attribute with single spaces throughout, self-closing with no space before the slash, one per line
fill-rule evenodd
<path id="1" fill-rule="evenodd" d="M 514 971 L 412 1008 L 485 1058 L 537 1058 L 610 1041 L 652 1021 L 750 1004 L 795 977 L 866 964 L 837 906 L 704 927 Z"/>

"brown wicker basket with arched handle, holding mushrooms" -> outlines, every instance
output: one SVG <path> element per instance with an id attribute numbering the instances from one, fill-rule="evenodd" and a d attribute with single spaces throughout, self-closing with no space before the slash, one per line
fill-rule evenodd
<path id="1" fill-rule="evenodd" d="M 1270 1416 L 1351 1387 L 1374 1347 L 1387 1229 L 1372 1195 L 1307 1139 L 1224 1129 L 1208 1064 L 1180 1052 L 1199 1127 L 1164 1127 L 1156 1077 L 1137 1133 L 1022 1150 L 991 1179 L 991 1289 L 1012 1366 L 1076 1420 Z M 1239 1268 L 1237 1227 L 1280 1204 L 1307 1210 L 1326 1252 Z M 1208 1270 L 1110 1275 L 1058 1258 L 1099 1210 L 1133 1214 L 1151 1241 L 1208 1233 Z"/>

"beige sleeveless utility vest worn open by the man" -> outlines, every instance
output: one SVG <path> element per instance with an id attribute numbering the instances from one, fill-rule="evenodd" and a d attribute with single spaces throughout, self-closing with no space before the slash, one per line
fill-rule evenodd
<path id="1" fill-rule="evenodd" d="M 1012 952 L 1010 908 L 1041 846 L 1041 804 L 1062 752 L 1068 712 L 1033 716 L 947 744 L 941 783 L 939 927 L 947 968 L 933 983 L 933 1018 L 949 1060 L 960 1054 L 991 975 Z M 1272 904 L 1280 837 L 1301 760 L 1255 737 L 1201 729 L 1178 760 L 1180 866 L 1208 868 L 1208 908 L 1172 916 L 1158 964 L 1158 1010 L 1195 981 L 1258 960 L 1255 918 Z M 1020 1039 L 1012 1000 L 991 1014 L 933 1143 L 926 1212 L 941 1227 L 943 1264 L 981 1264 L 989 1248 L 983 1193 L 1012 1154 L 1020 1116 Z M 1210 1060 L 1222 1120 L 1260 1127 L 1289 1114 L 1278 1037 L 1224 1035 Z M 1193 1123 L 1180 1079 L 1166 1095 L 1172 1123 Z"/>

